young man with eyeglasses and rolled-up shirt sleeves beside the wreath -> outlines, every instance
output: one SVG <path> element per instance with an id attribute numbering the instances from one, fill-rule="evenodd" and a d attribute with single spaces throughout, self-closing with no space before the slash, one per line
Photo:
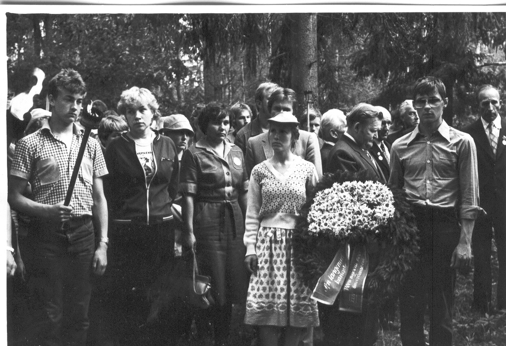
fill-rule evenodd
<path id="1" fill-rule="evenodd" d="M 406 273 L 399 294 L 403 346 L 425 345 L 429 307 L 431 345 L 452 344 L 456 269 L 469 272 L 471 236 L 478 207 L 476 146 L 469 134 L 443 120 L 443 82 L 416 81 L 413 106 L 420 123 L 394 142 L 389 184 L 403 188 L 419 231 L 419 260 Z"/>

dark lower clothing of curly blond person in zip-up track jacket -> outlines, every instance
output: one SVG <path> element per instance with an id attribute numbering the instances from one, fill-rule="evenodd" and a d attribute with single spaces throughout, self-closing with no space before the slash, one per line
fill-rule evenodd
<path id="1" fill-rule="evenodd" d="M 110 316 L 104 333 L 115 345 L 161 345 L 172 339 L 163 316 L 147 323 L 152 301 L 148 291 L 174 261 L 174 225 L 117 225 L 110 231 L 111 276 L 105 309 Z M 107 272 L 106 271 L 106 272 Z"/>

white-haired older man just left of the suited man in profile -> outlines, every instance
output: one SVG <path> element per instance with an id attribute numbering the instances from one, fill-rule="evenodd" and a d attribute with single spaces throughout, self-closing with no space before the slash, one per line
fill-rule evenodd
<path id="1" fill-rule="evenodd" d="M 320 136 L 324 143 L 320 153 L 324 173 L 326 172 L 328 153 L 335 142 L 339 141 L 346 132 L 347 127 L 346 115 L 343 111 L 334 108 L 323 113 L 320 122 Z"/>

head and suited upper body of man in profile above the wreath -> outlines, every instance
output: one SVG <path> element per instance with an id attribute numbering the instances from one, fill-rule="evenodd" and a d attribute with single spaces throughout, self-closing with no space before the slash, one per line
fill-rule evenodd
<path id="1" fill-rule="evenodd" d="M 377 138 L 382 119 L 383 114 L 374 106 L 359 103 L 353 107 L 346 117 L 347 131 L 330 150 L 327 171 L 333 173 L 341 169 L 357 172 L 364 169 L 368 180 L 386 184 L 385 175 L 368 151 Z"/>

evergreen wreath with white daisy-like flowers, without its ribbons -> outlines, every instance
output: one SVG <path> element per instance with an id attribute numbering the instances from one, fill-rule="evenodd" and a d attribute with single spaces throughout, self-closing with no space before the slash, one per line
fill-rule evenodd
<path id="1" fill-rule="evenodd" d="M 392 204 L 388 205 L 388 202 L 385 202 L 388 196 L 384 195 L 384 191 L 370 188 L 370 185 L 367 190 L 369 195 L 363 197 L 368 198 L 366 202 L 371 208 L 365 210 L 367 208 L 362 205 L 360 210 L 357 206 L 350 205 L 343 208 L 347 215 L 325 213 L 328 206 L 322 203 L 332 199 L 341 202 L 347 200 L 348 197 L 344 193 L 338 193 L 339 198 L 325 197 L 325 194 L 343 191 L 336 187 L 336 183 L 346 187 L 348 182 L 361 182 L 364 183 L 360 185 L 362 189 L 367 189 L 364 186 L 371 182 L 367 182 L 365 177 L 364 170 L 354 174 L 343 171 L 327 173 L 315 189 L 308 193 L 292 234 L 293 262 L 302 280 L 314 289 L 345 238 L 351 246 L 365 244 L 367 248 L 374 248 L 378 253 L 377 265 L 367 274 L 365 289 L 369 292 L 370 300 L 381 304 L 388 297 L 396 295 L 406 272 L 417 261 L 418 231 L 405 192 L 402 189 L 389 189 L 392 192 Z M 384 190 L 387 190 L 386 187 Z M 374 200 L 376 203 L 371 204 Z M 335 211 L 335 204 L 333 207 Z M 364 222 L 359 221 L 357 225 L 356 221 L 360 218 L 353 218 L 354 213 L 350 213 L 351 210 L 365 210 L 369 222 L 362 218 Z M 372 219 L 374 221 L 371 222 Z M 336 230 L 336 227 L 339 229 Z"/>

